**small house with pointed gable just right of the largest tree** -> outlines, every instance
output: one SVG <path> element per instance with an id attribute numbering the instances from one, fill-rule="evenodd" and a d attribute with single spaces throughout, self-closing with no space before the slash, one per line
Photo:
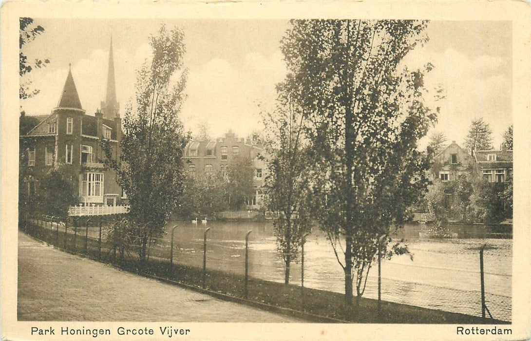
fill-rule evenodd
<path id="1" fill-rule="evenodd" d="M 454 181 L 459 175 L 474 174 L 474 159 L 456 141 L 433 157 L 432 173 L 441 181 Z"/>

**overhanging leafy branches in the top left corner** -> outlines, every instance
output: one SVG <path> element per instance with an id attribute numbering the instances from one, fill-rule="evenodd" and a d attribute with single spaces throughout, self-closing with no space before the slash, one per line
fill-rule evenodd
<path id="1" fill-rule="evenodd" d="M 44 32 L 44 28 L 42 28 L 41 25 L 35 25 L 33 24 L 33 19 L 31 18 L 20 18 L 20 31 L 19 31 L 19 74 L 22 77 L 24 74 L 31 72 L 33 70 L 33 67 L 42 67 L 46 66 L 46 64 L 49 64 L 50 61 L 48 58 L 42 59 L 36 58 L 35 61 L 30 62 L 28 61 L 28 56 L 24 54 L 23 52 L 23 46 L 28 44 L 30 41 L 33 41 L 35 38 L 37 38 L 38 35 Z M 39 93 L 39 90 L 37 89 L 30 89 L 30 83 L 27 82 L 20 82 L 20 88 L 19 88 L 19 97 L 20 99 L 29 98 L 32 96 L 37 95 Z"/>

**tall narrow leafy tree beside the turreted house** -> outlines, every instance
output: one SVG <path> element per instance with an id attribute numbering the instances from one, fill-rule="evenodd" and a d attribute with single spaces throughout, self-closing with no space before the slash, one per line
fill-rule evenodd
<path id="1" fill-rule="evenodd" d="M 164 25 L 158 36 L 150 37 L 153 57 L 138 71 L 136 103 L 126 108 L 119 161 L 104 142 L 106 162 L 116 169 L 130 201 L 131 220 L 140 227 L 135 237 L 142 246 L 141 260 L 148 241 L 164 232 L 183 191 L 183 152 L 189 140 L 178 117 L 187 75 L 183 40 L 181 30 L 167 32 Z"/>

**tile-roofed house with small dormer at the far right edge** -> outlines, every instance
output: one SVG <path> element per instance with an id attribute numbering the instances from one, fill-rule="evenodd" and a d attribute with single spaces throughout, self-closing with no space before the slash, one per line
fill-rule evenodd
<path id="1" fill-rule="evenodd" d="M 477 150 L 474 155 L 479 176 L 502 183 L 512 176 L 512 150 Z"/>

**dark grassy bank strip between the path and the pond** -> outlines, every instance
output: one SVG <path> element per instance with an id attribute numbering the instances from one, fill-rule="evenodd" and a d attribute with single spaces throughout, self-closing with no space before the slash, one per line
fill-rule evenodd
<path id="1" fill-rule="evenodd" d="M 28 234 L 23 230 L 22 232 Z M 358 304 L 353 305 L 349 310 L 344 305 L 344 294 L 311 288 L 304 288 L 303 291 L 298 285 L 285 285 L 256 278 L 249 278 L 249 291 L 248 298 L 246 299 L 243 284 L 244 276 L 242 275 L 208 270 L 203 288 L 197 285 L 197 283 L 202 283 L 203 276 L 202 269 L 199 268 L 179 264 L 170 267 L 167 260 L 162 261 L 153 258 L 145 262 L 134 259 L 116 259 L 114 262 L 104 259 L 100 260 L 93 253 L 85 254 L 64 249 L 31 234 L 28 235 L 60 251 L 105 263 L 136 275 L 193 289 L 194 291 L 205 293 L 221 300 L 242 303 L 265 311 L 287 314 L 288 316 L 301 318 L 309 322 L 510 324 L 508 321 L 483 319 L 466 314 L 426 309 L 386 301 L 381 302 L 381 313 L 379 314 L 378 301 L 364 297 L 361 297 Z"/>

